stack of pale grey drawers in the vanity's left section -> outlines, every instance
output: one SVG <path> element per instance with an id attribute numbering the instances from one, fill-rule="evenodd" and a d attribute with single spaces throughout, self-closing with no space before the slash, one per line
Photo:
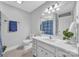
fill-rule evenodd
<path id="1" fill-rule="evenodd" d="M 55 48 L 48 44 L 37 41 L 37 56 L 38 57 L 55 57 Z"/>

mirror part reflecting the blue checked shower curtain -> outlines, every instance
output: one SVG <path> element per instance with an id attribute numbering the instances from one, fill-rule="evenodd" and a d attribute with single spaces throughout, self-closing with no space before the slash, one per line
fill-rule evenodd
<path id="1" fill-rule="evenodd" d="M 55 14 L 45 15 L 41 19 L 40 31 L 42 34 L 55 35 L 56 34 L 56 17 Z"/>

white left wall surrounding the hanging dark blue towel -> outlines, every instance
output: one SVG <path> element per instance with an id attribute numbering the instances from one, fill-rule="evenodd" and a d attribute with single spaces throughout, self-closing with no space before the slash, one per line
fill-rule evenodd
<path id="1" fill-rule="evenodd" d="M 1 37 L 3 45 L 6 45 L 8 48 L 10 48 L 22 44 L 22 41 L 30 33 L 30 14 L 3 3 L 0 5 L 2 6 Z M 5 20 L 7 20 L 7 22 L 5 22 Z M 10 20 L 18 22 L 17 32 L 8 31 Z"/>

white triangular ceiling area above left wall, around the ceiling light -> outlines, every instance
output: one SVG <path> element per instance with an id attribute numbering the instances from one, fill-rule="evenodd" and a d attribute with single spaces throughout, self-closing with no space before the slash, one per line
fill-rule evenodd
<path id="1" fill-rule="evenodd" d="M 22 4 L 18 4 L 17 1 L 6 1 L 3 3 L 6 3 L 17 8 L 21 8 L 22 10 L 27 12 L 32 12 L 36 8 L 44 4 L 45 1 L 23 1 Z"/>

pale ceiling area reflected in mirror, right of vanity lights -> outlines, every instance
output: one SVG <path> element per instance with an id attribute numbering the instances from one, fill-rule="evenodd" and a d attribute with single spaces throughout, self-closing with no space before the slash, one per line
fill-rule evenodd
<path id="1" fill-rule="evenodd" d="M 62 14 L 62 13 L 70 12 L 74 10 L 74 7 L 75 7 L 74 1 L 65 1 L 63 2 L 63 5 L 59 7 L 60 10 L 57 11 L 57 13 Z"/>

